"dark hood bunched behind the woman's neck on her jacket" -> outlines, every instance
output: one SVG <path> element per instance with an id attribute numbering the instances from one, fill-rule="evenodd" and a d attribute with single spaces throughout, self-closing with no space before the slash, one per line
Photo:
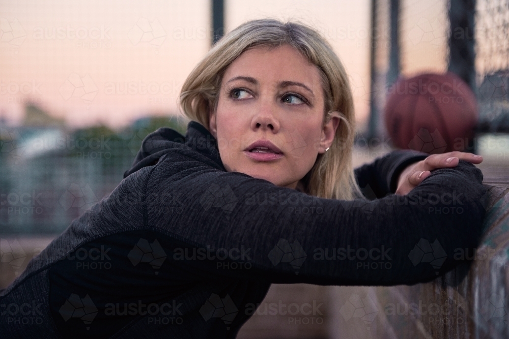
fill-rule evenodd
<path id="1" fill-rule="evenodd" d="M 224 170 L 219 157 L 217 140 L 199 122 L 189 121 L 186 135 L 183 136 L 174 129 L 161 127 L 150 133 L 142 142 L 131 168 L 124 173 L 124 178 L 137 170 L 157 164 L 159 159 L 175 148 L 191 147 L 207 158 L 216 162 Z"/>

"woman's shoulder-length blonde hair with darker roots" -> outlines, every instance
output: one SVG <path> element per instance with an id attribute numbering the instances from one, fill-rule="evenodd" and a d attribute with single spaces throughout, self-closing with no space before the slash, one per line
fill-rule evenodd
<path id="1" fill-rule="evenodd" d="M 319 154 L 312 169 L 301 179 L 304 192 L 327 198 L 361 198 L 352 168 L 355 114 L 345 69 L 326 40 L 314 29 L 297 22 L 273 19 L 245 22 L 216 42 L 189 74 L 182 86 L 180 105 L 185 115 L 209 129 L 209 112 L 215 110 L 222 75 L 247 49 L 290 45 L 316 65 L 324 91 L 324 125 L 340 118 L 330 149 Z"/>

